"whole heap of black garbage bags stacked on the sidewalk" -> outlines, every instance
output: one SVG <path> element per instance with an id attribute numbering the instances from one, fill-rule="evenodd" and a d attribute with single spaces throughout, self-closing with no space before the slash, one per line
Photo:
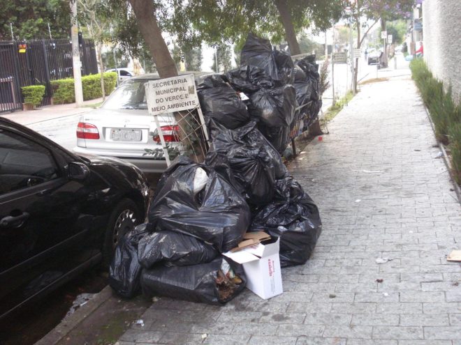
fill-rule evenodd
<path id="1" fill-rule="evenodd" d="M 120 296 L 231 300 L 247 277 L 222 253 L 247 231 L 280 238 L 282 267 L 309 259 L 322 229 L 319 210 L 280 153 L 298 102 L 319 97 L 311 65 L 295 67 L 289 54 L 249 36 L 240 68 L 197 86 L 210 151 L 202 164 L 177 157 L 157 185 L 148 222 L 117 244 L 109 283 Z M 297 80 L 310 87 L 298 88 Z"/>

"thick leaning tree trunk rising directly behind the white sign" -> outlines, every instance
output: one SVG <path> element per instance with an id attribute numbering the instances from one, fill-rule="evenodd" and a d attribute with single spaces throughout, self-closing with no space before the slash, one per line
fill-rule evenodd
<path id="1" fill-rule="evenodd" d="M 161 36 L 161 30 L 155 17 L 152 0 L 129 0 L 136 15 L 139 31 L 149 47 L 155 66 L 161 78 L 177 76 L 175 61 Z"/>

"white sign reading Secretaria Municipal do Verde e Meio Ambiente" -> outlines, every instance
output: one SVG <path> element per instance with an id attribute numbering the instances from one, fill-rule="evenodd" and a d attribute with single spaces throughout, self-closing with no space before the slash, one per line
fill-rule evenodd
<path id="1" fill-rule="evenodd" d="M 193 75 L 150 80 L 145 88 L 151 115 L 180 112 L 199 106 Z"/>

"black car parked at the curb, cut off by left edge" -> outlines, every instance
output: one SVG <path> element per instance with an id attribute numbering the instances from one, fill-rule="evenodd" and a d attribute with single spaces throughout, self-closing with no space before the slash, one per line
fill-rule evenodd
<path id="1" fill-rule="evenodd" d="M 0 319 L 107 264 L 145 219 L 148 190 L 132 164 L 74 155 L 0 118 Z"/>

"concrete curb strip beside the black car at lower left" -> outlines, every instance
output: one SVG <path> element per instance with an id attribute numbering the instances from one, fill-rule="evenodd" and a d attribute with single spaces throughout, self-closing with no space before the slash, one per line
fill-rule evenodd
<path id="1" fill-rule="evenodd" d="M 36 345 L 55 345 L 68 335 L 73 329 L 77 328 L 83 320 L 91 315 L 105 301 L 112 297 L 112 289 L 110 286 L 105 286 L 96 296 L 89 300 L 84 306 L 80 307 L 67 319 L 64 319 L 45 335 L 42 339 L 36 342 Z"/>

